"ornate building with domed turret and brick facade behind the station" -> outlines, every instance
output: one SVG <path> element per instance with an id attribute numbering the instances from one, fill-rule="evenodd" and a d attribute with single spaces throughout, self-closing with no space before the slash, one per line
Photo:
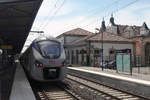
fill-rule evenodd
<path id="1" fill-rule="evenodd" d="M 108 26 L 106 31 L 135 41 L 136 62 L 142 66 L 150 65 L 150 30 L 146 23 L 142 26 L 117 25 L 113 16 L 110 23 L 111 26 Z"/>

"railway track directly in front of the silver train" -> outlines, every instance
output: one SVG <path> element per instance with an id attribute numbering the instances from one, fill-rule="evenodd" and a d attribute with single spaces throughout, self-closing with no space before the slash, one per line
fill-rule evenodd
<path id="1" fill-rule="evenodd" d="M 45 85 L 38 88 L 39 100 L 82 100 L 81 97 L 67 89 L 62 84 Z"/>

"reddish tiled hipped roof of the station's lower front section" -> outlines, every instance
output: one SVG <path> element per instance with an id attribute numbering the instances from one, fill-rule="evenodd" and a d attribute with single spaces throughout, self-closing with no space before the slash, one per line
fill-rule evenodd
<path id="1" fill-rule="evenodd" d="M 102 34 L 94 35 L 93 37 L 87 39 L 88 41 L 102 41 Z M 121 36 L 117 36 L 112 33 L 104 32 L 103 33 L 103 41 L 110 42 L 134 42 L 131 39 L 123 38 Z"/>

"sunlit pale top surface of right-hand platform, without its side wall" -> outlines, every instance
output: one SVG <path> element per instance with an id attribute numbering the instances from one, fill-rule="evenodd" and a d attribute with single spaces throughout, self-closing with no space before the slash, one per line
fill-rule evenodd
<path id="1" fill-rule="evenodd" d="M 130 73 L 127 72 L 116 72 L 116 70 L 111 70 L 111 69 L 104 69 L 102 71 L 101 68 L 97 68 L 97 67 L 68 67 L 68 68 L 77 68 L 77 69 L 83 69 L 84 71 L 90 71 L 90 72 L 94 72 L 94 73 L 98 73 L 98 74 L 104 74 L 104 75 L 108 75 L 110 77 L 114 77 L 117 76 L 116 78 L 120 78 L 120 79 L 128 79 L 128 80 L 132 80 L 135 82 L 142 82 L 143 84 L 148 84 L 150 85 L 150 74 L 140 74 L 140 73 L 132 73 L 132 75 L 130 75 Z M 100 72 L 100 73 L 99 73 Z"/>

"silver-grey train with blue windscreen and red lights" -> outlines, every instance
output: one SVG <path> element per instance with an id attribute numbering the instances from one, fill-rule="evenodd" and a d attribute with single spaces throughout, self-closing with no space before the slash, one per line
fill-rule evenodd
<path id="1" fill-rule="evenodd" d="M 40 36 L 20 56 L 28 76 L 36 81 L 62 81 L 66 76 L 63 45 L 53 37 Z"/>

